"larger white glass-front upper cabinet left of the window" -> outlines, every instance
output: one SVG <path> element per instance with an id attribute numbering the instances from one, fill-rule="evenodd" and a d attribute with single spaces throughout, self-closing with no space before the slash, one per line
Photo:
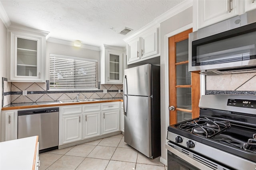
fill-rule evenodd
<path id="1" fill-rule="evenodd" d="M 45 51 L 48 32 L 8 28 L 8 81 L 45 82 Z"/>

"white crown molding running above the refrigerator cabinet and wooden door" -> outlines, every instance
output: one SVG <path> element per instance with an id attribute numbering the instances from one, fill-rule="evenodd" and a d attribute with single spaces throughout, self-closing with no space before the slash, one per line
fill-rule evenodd
<path id="1" fill-rule="evenodd" d="M 140 28 L 138 31 L 136 31 L 134 34 L 130 35 L 129 37 L 126 37 L 123 39 L 125 42 L 133 39 L 134 37 L 138 37 L 141 33 L 144 33 L 144 31 L 152 28 L 152 27 L 158 27 L 160 26 L 160 23 L 171 18 L 172 16 L 175 16 L 176 14 L 186 10 L 187 8 L 191 7 L 193 5 L 193 0 L 184 0 L 180 4 L 174 6 L 164 14 L 158 16 L 153 21 L 145 25 L 144 27 Z"/>

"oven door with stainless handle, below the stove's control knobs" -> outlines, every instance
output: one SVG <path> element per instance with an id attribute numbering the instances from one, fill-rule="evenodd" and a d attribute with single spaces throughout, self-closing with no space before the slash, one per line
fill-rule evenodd
<path id="1" fill-rule="evenodd" d="M 174 146 L 165 144 L 168 150 L 168 170 L 212 170 L 212 168 L 186 156 L 174 149 Z"/>

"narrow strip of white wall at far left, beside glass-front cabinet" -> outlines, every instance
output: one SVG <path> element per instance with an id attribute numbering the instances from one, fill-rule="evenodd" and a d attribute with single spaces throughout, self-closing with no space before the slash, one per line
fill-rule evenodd
<path id="1" fill-rule="evenodd" d="M 4 25 L 3 21 L 0 20 L 0 78 L 1 78 L 1 85 L 0 85 L 0 101 L 1 101 L 1 109 L 2 109 L 2 77 L 6 78 L 6 36 L 7 36 L 7 29 Z M 1 115 L 0 109 L 0 115 Z M 0 116 L 0 129 L 1 129 L 1 116 Z M 1 132 L 0 132 L 1 133 Z M 1 141 L 1 135 L 0 135 Z"/>

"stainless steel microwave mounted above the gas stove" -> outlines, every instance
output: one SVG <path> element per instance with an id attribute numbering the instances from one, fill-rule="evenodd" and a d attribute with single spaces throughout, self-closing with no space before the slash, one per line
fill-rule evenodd
<path id="1" fill-rule="evenodd" d="M 189 71 L 256 72 L 256 10 L 189 34 Z"/>

